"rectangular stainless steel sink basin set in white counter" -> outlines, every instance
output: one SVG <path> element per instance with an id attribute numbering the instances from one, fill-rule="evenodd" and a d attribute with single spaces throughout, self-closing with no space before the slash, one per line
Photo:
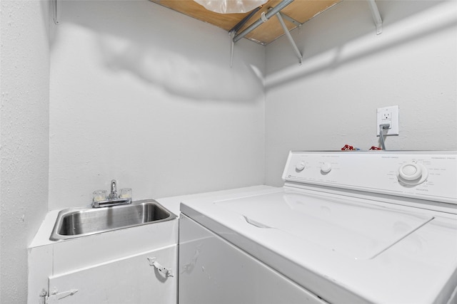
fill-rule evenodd
<path id="1" fill-rule="evenodd" d="M 74 239 L 116 229 L 170 221 L 176 217 L 154 199 L 104 208 L 64 209 L 59 212 L 49 239 Z"/>

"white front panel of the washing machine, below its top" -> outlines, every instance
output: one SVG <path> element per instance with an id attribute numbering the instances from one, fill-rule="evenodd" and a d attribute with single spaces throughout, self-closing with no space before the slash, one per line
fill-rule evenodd
<path id="1" fill-rule="evenodd" d="M 184 215 L 179 304 L 323 304 L 320 298 Z"/>

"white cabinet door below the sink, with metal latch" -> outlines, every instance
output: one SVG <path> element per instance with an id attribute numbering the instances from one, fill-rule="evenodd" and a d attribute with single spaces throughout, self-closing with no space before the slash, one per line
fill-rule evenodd
<path id="1" fill-rule="evenodd" d="M 176 304 L 176 276 L 159 271 L 152 258 L 176 275 L 174 245 L 51 276 L 49 303 Z"/>

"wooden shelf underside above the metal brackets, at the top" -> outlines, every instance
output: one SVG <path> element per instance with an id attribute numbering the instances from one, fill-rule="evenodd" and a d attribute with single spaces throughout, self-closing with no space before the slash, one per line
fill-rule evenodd
<path id="1" fill-rule="evenodd" d="M 214 13 L 213 11 L 208 11 L 196 3 L 193 0 L 150 0 L 161 6 L 166 6 L 169 9 L 174 11 L 179 11 L 182 14 L 191 16 L 200 21 L 211 23 L 214 26 L 219 26 L 224 28 L 226 31 L 230 31 L 233 26 L 236 26 L 244 17 L 249 15 L 248 13 L 244 14 L 219 14 Z M 309 19 L 313 18 L 317 14 L 320 14 L 322 11 L 325 11 L 333 4 L 338 3 L 341 0 L 295 0 L 284 9 L 281 10 L 281 13 L 286 14 L 287 16 L 295 19 L 299 23 L 304 23 Z M 266 4 L 263 4 L 261 9 L 254 14 L 251 19 L 249 19 L 244 26 L 238 30 L 238 33 L 241 33 L 245 28 L 250 26 L 252 23 L 261 18 L 263 11 L 268 11 L 268 9 L 278 5 L 281 0 L 269 0 Z M 296 25 L 290 21 L 284 19 L 288 30 L 295 28 Z M 261 26 L 258 26 L 255 30 L 251 31 L 246 35 L 246 38 L 251 41 L 255 41 L 261 44 L 267 44 L 275 40 L 279 36 L 284 34 L 281 23 L 278 19 L 273 16 L 265 23 L 262 23 Z"/>

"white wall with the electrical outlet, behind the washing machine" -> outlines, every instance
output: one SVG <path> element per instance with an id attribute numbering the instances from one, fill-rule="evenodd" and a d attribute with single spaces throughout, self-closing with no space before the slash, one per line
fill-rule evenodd
<path id="1" fill-rule="evenodd" d="M 457 1 L 342 1 L 266 46 L 266 184 L 289 150 L 378 146 L 376 108 L 399 105 L 388 150 L 457 150 Z"/>

